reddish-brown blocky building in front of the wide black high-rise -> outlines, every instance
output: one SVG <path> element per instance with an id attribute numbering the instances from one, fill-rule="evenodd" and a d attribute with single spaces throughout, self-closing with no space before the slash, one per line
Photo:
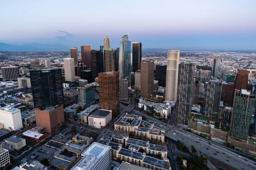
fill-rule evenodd
<path id="1" fill-rule="evenodd" d="M 37 126 L 45 128 L 46 133 L 55 133 L 65 123 L 63 105 L 35 109 L 35 121 Z"/>

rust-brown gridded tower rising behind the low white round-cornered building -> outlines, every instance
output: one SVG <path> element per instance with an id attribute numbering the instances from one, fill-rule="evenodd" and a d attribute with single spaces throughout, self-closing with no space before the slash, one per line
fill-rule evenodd
<path id="1" fill-rule="evenodd" d="M 99 107 L 112 110 L 112 116 L 119 114 L 119 73 L 99 73 Z"/>

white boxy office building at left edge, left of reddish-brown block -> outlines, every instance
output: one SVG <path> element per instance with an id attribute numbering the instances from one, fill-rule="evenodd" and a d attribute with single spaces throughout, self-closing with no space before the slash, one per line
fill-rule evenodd
<path id="1" fill-rule="evenodd" d="M 7 106 L 0 108 L 0 117 L 0 123 L 2 123 L 3 127 L 6 129 L 17 131 L 23 128 L 19 109 Z"/>

